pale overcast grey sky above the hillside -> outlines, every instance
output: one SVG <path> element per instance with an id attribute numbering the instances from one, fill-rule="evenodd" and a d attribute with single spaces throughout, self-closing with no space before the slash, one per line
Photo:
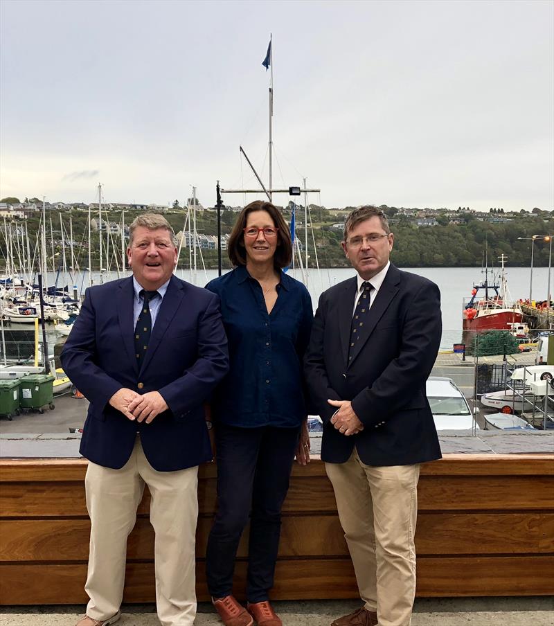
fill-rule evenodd
<path id="1" fill-rule="evenodd" d="M 0 197 L 213 206 L 240 145 L 267 186 L 270 34 L 274 188 L 554 209 L 551 0 L 1 0 Z"/>

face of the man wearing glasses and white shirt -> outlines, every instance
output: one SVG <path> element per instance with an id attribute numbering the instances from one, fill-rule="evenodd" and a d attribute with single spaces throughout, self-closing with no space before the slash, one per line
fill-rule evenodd
<path id="1" fill-rule="evenodd" d="M 346 258 L 364 280 L 378 274 L 388 262 L 393 249 L 393 233 L 385 233 L 381 220 L 373 215 L 359 222 L 342 242 Z"/>

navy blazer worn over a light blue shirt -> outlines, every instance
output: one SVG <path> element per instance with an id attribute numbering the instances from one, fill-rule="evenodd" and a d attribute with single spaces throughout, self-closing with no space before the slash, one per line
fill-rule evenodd
<path id="1" fill-rule="evenodd" d="M 202 403 L 229 369 L 219 298 L 172 276 L 139 371 L 134 350 L 133 279 L 89 287 L 61 355 L 66 375 L 90 401 L 80 453 L 120 469 L 137 431 L 148 462 L 170 472 L 211 460 Z M 169 406 L 150 423 L 109 405 L 120 388 L 159 391 Z"/>

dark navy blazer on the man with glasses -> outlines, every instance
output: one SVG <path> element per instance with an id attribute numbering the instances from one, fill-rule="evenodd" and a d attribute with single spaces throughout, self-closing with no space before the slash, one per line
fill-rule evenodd
<path id="1" fill-rule="evenodd" d="M 388 268 L 348 363 L 357 278 L 321 294 L 305 354 L 307 387 L 323 420 L 321 458 L 344 463 L 356 446 L 367 465 L 440 458 L 425 382 L 440 345 L 440 292 L 427 278 Z M 341 434 L 327 400 L 351 400 L 364 430 Z"/>

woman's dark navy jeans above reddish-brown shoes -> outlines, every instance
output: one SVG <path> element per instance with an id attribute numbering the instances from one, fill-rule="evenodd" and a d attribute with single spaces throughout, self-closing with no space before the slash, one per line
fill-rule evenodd
<path id="1" fill-rule="evenodd" d="M 281 507 L 299 433 L 299 428 L 217 424 L 217 514 L 206 548 L 206 580 L 213 598 L 231 593 L 238 544 L 250 515 L 247 600 L 269 599 Z"/>

